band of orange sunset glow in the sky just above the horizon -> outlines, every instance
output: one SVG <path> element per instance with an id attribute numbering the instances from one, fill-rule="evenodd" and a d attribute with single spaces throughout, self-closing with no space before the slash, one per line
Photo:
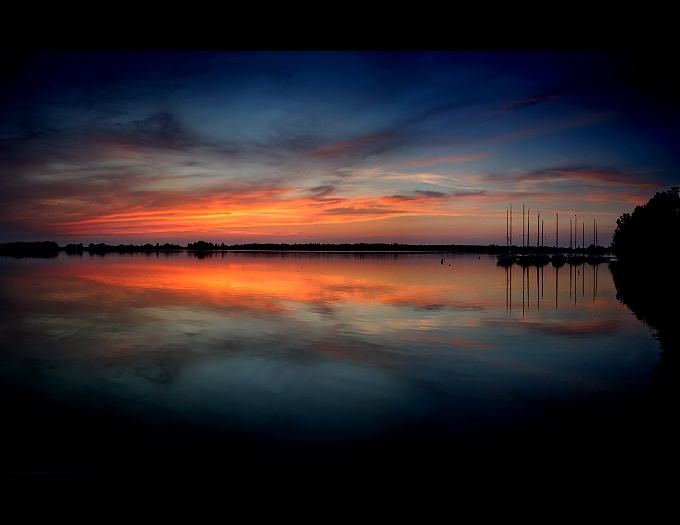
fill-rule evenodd
<path id="1" fill-rule="evenodd" d="M 613 232 L 618 214 L 609 211 L 606 203 L 612 198 L 636 204 L 641 200 L 630 188 L 599 186 L 585 195 L 425 189 L 357 195 L 351 186 L 304 189 L 233 181 L 226 186 L 214 193 L 197 190 L 186 195 L 171 190 L 148 191 L 142 196 L 121 192 L 101 204 L 86 197 L 43 199 L 8 208 L 7 214 L 17 224 L 30 222 L 38 230 L 69 239 L 66 242 L 117 237 L 123 244 L 140 238 L 185 244 L 211 237 L 206 240 L 237 244 L 259 242 L 247 239 L 255 236 L 262 242 L 280 242 L 285 237 L 285 242 L 505 244 L 505 209 L 511 202 L 516 205 L 515 220 L 519 219 L 518 202 L 526 201 L 532 210 L 540 209 L 542 217 L 555 210 L 561 215 L 597 216 L 601 232 L 608 228 Z M 310 195 L 314 191 L 317 195 Z M 582 212 L 584 203 L 597 210 Z M 546 223 L 547 231 L 552 230 Z"/>

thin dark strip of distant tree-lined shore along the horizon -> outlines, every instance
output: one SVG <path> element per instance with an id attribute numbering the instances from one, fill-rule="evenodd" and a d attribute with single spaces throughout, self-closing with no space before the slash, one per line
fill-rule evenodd
<path id="1" fill-rule="evenodd" d="M 175 253 L 175 252 L 325 252 L 325 253 L 476 253 L 497 255 L 511 251 L 516 254 L 555 254 L 555 253 L 577 253 L 577 254 L 604 254 L 608 249 L 603 246 L 589 246 L 588 248 L 564 248 L 554 246 L 501 246 L 497 244 L 399 244 L 399 243 L 248 243 L 226 245 L 213 244 L 205 241 L 189 243 L 186 246 L 179 244 L 118 244 L 110 245 L 105 243 L 84 245 L 67 244 L 59 246 L 54 241 L 42 242 L 12 242 L 0 244 L 0 255 L 10 257 L 56 257 L 59 252 L 69 255 L 82 255 L 84 253 L 104 255 L 107 253 Z"/>

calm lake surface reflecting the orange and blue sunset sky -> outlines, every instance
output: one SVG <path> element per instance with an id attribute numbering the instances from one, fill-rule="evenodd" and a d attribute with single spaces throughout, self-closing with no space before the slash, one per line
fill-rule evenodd
<path id="1" fill-rule="evenodd" d="M 643 395 L 660 351 L 606 263 L 62 252 L 0 258 L 0 303 L 10 470 L 483 439 Z"/>

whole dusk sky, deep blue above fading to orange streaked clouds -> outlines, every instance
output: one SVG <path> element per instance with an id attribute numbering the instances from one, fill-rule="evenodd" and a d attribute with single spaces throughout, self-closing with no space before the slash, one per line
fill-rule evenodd
<path id="1" fill-rule="evenodd" d="M 660 63 L 661 62 L 661 63 Z M 680 185 L 630 52 L 30 52 L 0 64 L 0 242 L 608 245 Z M 530 237 L 522 237 L 522 208 Z M 526 219 L 525 219 L 526 220 Z"/>

